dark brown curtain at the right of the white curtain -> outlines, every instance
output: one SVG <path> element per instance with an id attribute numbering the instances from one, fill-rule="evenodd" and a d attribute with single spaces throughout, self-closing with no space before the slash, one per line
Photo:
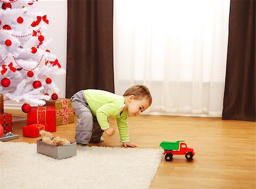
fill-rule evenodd
<path id="1" fill-rule="evenodd" d="M 231 0 L 222 119 L 255 121 L 255 0 Z"/>

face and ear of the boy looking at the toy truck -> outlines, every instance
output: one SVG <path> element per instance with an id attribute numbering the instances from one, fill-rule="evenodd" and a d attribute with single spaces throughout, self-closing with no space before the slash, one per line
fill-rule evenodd
<path id="1" fill-rule="evenodd" d="M 150 106 L 148 99 L 135 100 L 134 95 L 129 96 L 129 104 L 127 106 L 127 112 L 130 116 L 137 116 Z"/>

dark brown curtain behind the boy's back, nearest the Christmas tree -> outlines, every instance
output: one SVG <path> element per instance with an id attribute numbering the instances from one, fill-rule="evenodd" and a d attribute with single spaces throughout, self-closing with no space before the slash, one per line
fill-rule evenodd
<path id="1" fill-rule="evenodd" d="M 82 89 L 114 92 L 113 0 L 68 0 L 66 97 Z"/>

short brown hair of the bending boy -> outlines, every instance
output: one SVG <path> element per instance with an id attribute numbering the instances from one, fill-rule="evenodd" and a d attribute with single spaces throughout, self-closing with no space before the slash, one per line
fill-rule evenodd
<path id="1" fill-rule="evenodd" d="M 143 98 L 147 98 L 149 104 L 152 103 L 152 96 L 148 88 L 144 85 L 134 85 L 127 89 L 123 96 L 134 95 L 135 100 L 142 100 Z"/>

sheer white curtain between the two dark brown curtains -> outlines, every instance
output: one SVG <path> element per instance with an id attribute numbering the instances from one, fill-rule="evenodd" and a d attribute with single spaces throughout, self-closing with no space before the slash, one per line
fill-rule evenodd
<path id="1" fill-rule="evenodd" d="M 114 0 L 115 93 L 146 85 L 147 114 L 221 116 L 230 0 Z"/>

